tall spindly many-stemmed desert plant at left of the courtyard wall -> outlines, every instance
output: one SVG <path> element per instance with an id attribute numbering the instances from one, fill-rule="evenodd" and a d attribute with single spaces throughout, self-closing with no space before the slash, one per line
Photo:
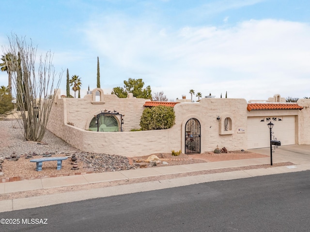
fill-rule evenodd
<path id="1" fill-rule="evenodd" d="M 31 40 L 27 42 L 25 37 L 15 34 L 8 39 L 9 46 L 2 50 L 4 54 L 10 53 L 17 58 L 17 62 L 9 63 L 9 69 L 15 71 L 12 73 L 12 86 L 20 111 L 17 121 L 27 141 L 41 141 L 55 99 L 54 91 L 59 88 L 63 72 L 56 73 L 50 51 L 40 55 L 36 63 L 37 47 Z"/>

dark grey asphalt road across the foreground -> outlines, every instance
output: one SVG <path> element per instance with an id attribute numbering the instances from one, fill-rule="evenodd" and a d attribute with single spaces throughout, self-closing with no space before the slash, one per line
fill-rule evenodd
<path id="1" fill-rule="evenodd" d="M 310 171 L 5 212 L 0 218 L 19 219 L 0 224 L 1 232 L 309 232 Z"/>

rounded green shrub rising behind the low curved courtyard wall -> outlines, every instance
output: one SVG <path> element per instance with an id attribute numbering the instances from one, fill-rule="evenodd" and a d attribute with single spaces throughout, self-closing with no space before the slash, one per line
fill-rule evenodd
<path id="1" fill-rule="evenodd" d="M 158 105 L 144 109 L 140 118 L 142 131 L 169 129 L 175 124 L 172 107 Z"/>

